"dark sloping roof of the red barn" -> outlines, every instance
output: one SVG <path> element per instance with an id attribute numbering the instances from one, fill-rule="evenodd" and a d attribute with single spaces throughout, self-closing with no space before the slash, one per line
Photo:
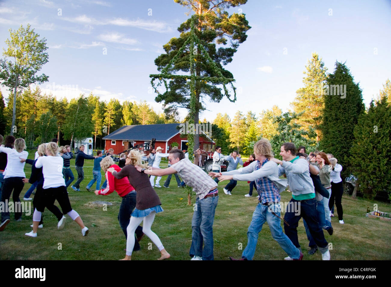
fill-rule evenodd
<path id="1" fill-rule="evenodd" d="M 179 123 L 166 123 L 159 125 L 133 125 L 118 128 L 118 130 L 106 135 L 103 139 L 118 139 L 132 141 L 167 141 L 179 133 Z"/>

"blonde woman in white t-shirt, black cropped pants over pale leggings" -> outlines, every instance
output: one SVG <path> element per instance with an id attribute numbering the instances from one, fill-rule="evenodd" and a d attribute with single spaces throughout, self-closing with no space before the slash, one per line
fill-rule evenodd
<path id="1" fill-rule="evenodd" d="M 65 180 L 63 178 L 64 160 L 59 156 L 59 148 L 56 143 L 46 144 L 46 157 L 39 157 L 35 163 L 36 168 L 42 168 L 43 173 L 43 194 L 36 203 L 36 209 L 32 216 L 32 231 L 25 235 L 37 237 L 37 230 L 41 214 L 46 205 L 52 205 L 55 200 L 58 201 L 63 214 L 68 214 L 82 228 L 83 236 L 88 234 L 88 228 L 84 225 L 79 214 L 72 209 L 66 192 Z"/>

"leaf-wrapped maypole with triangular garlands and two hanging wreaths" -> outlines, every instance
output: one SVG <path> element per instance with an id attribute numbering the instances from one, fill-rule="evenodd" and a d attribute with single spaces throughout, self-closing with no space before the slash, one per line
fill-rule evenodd
<path id="1" fill-rule="evenodd" d="M 187 83 L 190 86 L 190 103 L 189 103 L 189 115 L 190 120 L 189 123 L 194 124 L 194 116 L 196 112 L 196 106 L 197 106 L 197 99 L 196 99 L 196 91 L 195 91 L 195 84 L 197 81 L 204 82 L 205 84 L 207 82 L 210 82 L 215 85 L 221 85 L 224 89 L 224 96 L 230 100 L 230 102 L 236 101 L 236 88 L 233 86 L 233 82 L 235 82 L 235 79 L 233 78 L 226 78 L 222 75 L 221 69 L 217 67 L 216 63 L 212 60 L 212 58 L 209 56 L 208 52 L 206 51 L 205 47 L 202 45 L 201 41 L 197 37 L 197 35 L 194 32 L 194 21 L 196 20 L 196 15 L 193 15 L 191 18 L 191 26 L 190 26 L 190 36 L 187 38 L 185 43 L 182 45 L 182 47 L 179 49 L 178 53 L 171 59 L 169 64 L 165 66 L 161 70 L 160 74 L 151 74 L 149 77 L 151 78 L 151 85 L 154 88 L 155 93 L 160 94 L 160 92 L 157 90 L 157 86 L 161 86 L 162 83 L 164 83 L 164 86 L 166 90 L 168 91 L 169 87 L 167 85 L 167 79 L 182 79 L 186 80 Z M 185 53 L 185 50 L 187 47 L 189 47 L 189 61 L 190 61 L 190 75 L 174 75 L 170 73 L 170 68 L 176 63 L 176 61 L 179 59 L 179 57 Z M 195 54 L 197 54 L 197 48 L 201 52 L 201 55 L 205 58 L 205 66 L 210 68 L 218 77 L 203 77 L 203 76 L 197 76 L 196 74 L 196 62 Z M 195 52 L 195 53 L 194 53 Z M 155 80 L 158 80 L 158 84 L 155 86 Z M 233 89 L 233 99 L 231 99 L 230 94 L 228 93 L 228 89 L 226 85 L 230 84 L 231 88 Z M 188 134 L 188 152 L 189 152 L 189 159 L 193 160 L 193 152 L 194 152 L 194 134 Z M 190 193 L 188 194 L 190 196 Z M 190 199 L 189 199 L 190 202 Z"/>

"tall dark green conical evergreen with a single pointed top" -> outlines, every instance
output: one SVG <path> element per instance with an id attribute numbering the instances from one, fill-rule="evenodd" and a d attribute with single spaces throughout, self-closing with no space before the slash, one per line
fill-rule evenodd
<path id="1" fill-rule="evenodd" d="M 327 84 L 323 91 L 325 109 L 320 148 L 338 159 L 344 167 L 342 175 L 345 177 L 351 166 L 349 159 L 354 141 L 353 130 L 359 116 L 364 113 L 362 91 L 345 63 L 335 62 L 334 73 L 328 75 Z"/>

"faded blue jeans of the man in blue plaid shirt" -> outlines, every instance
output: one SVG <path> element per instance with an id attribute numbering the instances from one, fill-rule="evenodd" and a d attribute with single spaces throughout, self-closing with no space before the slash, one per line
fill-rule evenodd
<path id="1" fill-rule="evenodd" d="M 273 239 L 280 244 L 281 248 L 289 257 L 299 259 L 300 250 L 296 248 L 291 239 L 282 232 L 281 219 L 271 213 L 271 211 L 273 211 L 276 215 L 280 216 L 278 210 L 281 210 L 281 206 L 271 205 L 268 207 L 267 205 L 258 203 L 253 213 L 253 219 L 251 219 L 250 226 L 248 227 L 248 242 L 246 248 L 243 250 L 242 258 L 253 260 L 256 244 L 258 242 L 258 234 L 262 230 L 262 225 L 267 222 Z"/>

